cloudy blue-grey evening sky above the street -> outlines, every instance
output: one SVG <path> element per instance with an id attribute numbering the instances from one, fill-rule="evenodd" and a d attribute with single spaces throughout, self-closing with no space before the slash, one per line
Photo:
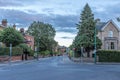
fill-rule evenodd
<path id="1" fill-rule="evenodd" d="M 69 46 L 74 40 L 83 7 L 88 3 L 95 19 L 102 22 L 120 16 L 120 0 L 0 0 L 0 20 L 27 29 L 33 21 L 52 24 L 55 40 Z"/>

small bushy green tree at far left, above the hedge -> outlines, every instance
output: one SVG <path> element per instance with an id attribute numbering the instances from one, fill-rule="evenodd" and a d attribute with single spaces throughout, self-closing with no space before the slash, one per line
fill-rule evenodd
<path id="1" fill-rule="evenodd" d="M 0 31 L 0 41 L 5 43 L 7 47 L 10 46 L 10 43 L 12 46 L 16 46 L 24 42 L 24 37 L 14 28 L 8 27 Z"/>

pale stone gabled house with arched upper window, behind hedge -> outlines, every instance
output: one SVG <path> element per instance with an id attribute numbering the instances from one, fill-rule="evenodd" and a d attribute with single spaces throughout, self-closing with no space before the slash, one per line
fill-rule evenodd
<path id="1" fill-rule="evenodd" d="M 103 50 L 120 50 L 120 29 L 113 21 L 97 22 L 98 38 L 102 41 Z"/>

